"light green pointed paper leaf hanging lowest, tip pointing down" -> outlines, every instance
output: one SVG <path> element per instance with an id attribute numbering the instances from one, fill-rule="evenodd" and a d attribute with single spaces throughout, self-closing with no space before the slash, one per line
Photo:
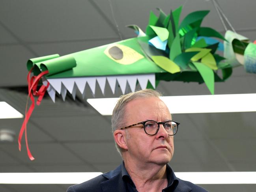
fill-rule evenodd
<path id="1" fill-rule="evenodd" d="M 211 92 L 211 94 L 214 94 L 214 73 L 213 70 L 203 63 L 193 62 L 196 69 L 202 76 L 207 88 Z"/>

